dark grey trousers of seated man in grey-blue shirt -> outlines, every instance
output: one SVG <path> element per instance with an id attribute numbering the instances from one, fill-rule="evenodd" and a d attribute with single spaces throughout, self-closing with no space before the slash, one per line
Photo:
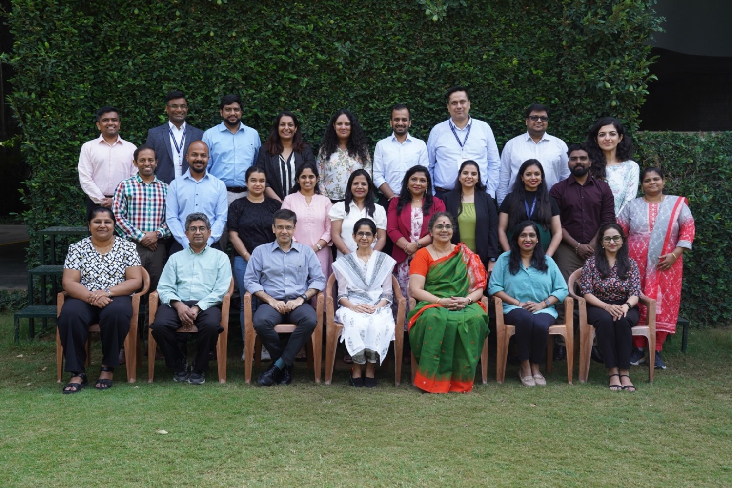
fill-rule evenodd
<path id="1" fill-rule="evenodd" d="M 269 304 L 259 304 L 252 321 L 259 339 L 272 355 L 272 361 L 282 359 L 288 366 L 291 366 L 295 355 L 307 343 L 307 339 L 310 339 L 315 326 L 318 325 L 315 309 L 307 303 L 286 314 L 277 312 Z M 278 323 L 294 323 L 297 326 L 285 347 L 280 341 L 279 334 L 275 332 L 275 326 Z"/>

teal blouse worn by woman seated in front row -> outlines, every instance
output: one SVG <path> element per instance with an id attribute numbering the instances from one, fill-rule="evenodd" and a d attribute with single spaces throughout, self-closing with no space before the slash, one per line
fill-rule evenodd
<path id="1" fill-rule="evenodd" d="M 552 258 L 547 255 L 544 256 L 548 266 L 546 273 L 542 273 L 533 266 L 526 269 L 522 264 L 519 266 L 518 273 L 511 274 L 508 268 L 510 255 L 511 252 L 507 251 L 498 256 L 496 266 L 493 268 L 493 273 L 490 274 L 490 281 L 488 282 L 488 293 L 490 295 L 504 291 L 517 300 L 535 302 L 544 301 L 550 296 L 556 296 L 560 304 L 567 298 L 569 294 L 567 283 L 564 282 L 561 271 L 559 271 L 559 267 L 556 266 Z M 504 314 L 518 308 L 504 301 Z M 534 313 L 548 313 L 556 318 L 556 308 L 553 305 Z"/>

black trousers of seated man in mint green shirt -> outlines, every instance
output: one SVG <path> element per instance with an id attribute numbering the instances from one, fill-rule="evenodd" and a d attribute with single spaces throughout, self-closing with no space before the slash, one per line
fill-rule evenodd
<path id="1" fill-rule="evenodd" d="M 197 304 L 197 300 L 184 301 L 188 307 Z M 195 354 L 195 372 L 206 372 L 209 369 L 209 353 L 216 347 L 219 334 L 224 328 L 221 326 L 221 309 L 210 307 L 198 313 L 194 321 L 198 329 L 198 344 Z M 187 339 L 187 333 L 176 332 L 180 329 L 181 320 L 178 318 L 176 309 L 160 304 L 155 314 L 155 320 L 150 326 L 152 337 L 160 346 L 160 352 L 165 356 L 165 365 L 175 369 L 176 363 L 184 361 L 185 353 L 179 347 L 179 342 L 184 342 L 180 337 Z"/>

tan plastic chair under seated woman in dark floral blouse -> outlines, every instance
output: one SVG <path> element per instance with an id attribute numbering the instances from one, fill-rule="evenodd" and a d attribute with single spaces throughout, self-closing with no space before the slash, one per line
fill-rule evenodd
<path id="1" fill-rule="evenodd" d="M 577 293 L 575 287 L 579 287 L 580 274 L 578 269 L 569 276 L 569 294 L 580 302 L 580 383 L 586 383 L 590 371 L 590 356 L 592 354 L 592 342 L 594 342 L 594 327 L 587 322 L 587 302 Z M 656 359 L 656 301 L 641 293 L 641 304 L 646 306 L 646 323 L 639 322 L 638 326 L 632 328 L 634 336 L 643 336 L 648 339 L 649 368 L 648 380 L 653 382 L 654 361 Z"/>

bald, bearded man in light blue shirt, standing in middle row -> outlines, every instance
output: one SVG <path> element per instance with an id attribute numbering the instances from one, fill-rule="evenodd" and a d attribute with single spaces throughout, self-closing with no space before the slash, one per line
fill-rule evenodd
<path id="1" fill-rule="evenodd" d="M 168 198 L 165 200 L 165 222 L 176 240 L 170 254 L 188 247 L 184 221 L 194 212 L 202 212 L 211 220 L 208 244 L 216 243 L 226 225 L 228 204 L 223 182 L 206 172 L 209 165 L 209 147 L 201 140 L 188 146 L 185 155 L 190 168 L 171 182 Z"/>

